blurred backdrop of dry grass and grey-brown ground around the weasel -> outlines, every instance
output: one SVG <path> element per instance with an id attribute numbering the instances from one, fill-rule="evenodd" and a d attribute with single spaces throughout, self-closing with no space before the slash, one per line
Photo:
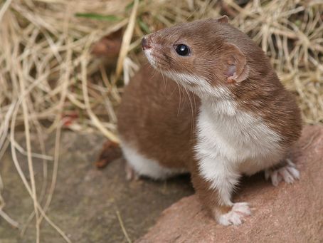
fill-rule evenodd
<path id="1" fill-rule="evenodd" d="M 323 123 L 322 0 L 1 1 L 0 242 L 131 242 L 193 193 L 187 178 L 129 184 L 121 162 L 92 162 L 117 141 L 142 36 L 223 14 L 270 56 L 304 123 Z"/>

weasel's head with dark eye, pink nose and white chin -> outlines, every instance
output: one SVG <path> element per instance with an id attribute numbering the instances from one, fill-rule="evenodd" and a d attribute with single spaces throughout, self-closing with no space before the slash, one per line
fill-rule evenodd
<path id="1" fill-rule="evenodd" d="M 198 20 L 162 29 L 142 38 L 149 63 L 197 95 L 227 95 L 228 86 L 248 78 L 242 33 L 228 17 Z"/>

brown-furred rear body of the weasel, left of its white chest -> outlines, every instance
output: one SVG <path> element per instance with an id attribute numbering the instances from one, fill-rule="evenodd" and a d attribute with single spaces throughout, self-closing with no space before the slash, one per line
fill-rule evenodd
<path id="1" fill-rule="evenodd" d="M 165 167 L 187 167 L 199 105 L 196 95 L 143 66 L 122 95 L 120 138 Z"/>

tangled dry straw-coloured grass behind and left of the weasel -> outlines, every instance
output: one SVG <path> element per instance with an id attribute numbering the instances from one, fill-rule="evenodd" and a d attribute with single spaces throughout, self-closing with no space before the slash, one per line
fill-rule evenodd
<path id="1" fill-rule="evenodd" d="M 138 62 L 140 37 L 174 23 L 221 14 L 248 33 L 271 57 L 282 82 L 297 94 L 305 123 L 323 122 L 323 1 L 156 0 L 6 0 L 0 6 L 0 158 L 10 145 L 17 171 L 31 195 L 36 236 L 46 216 L 58 172 L 62 128 L 100 132 L 117 141 L 115 107 L 122 82 Z M 94 14 L 89 14 L 94 13 Z M 125 29 L 117 67 L 105 67 L 90 54 L 93 43 Z M 123 71 L 123 72 L 122 72 Z M 24 128 L 26 148 L 15 140 Z M 55 154 L 46 155 L 46 135 L 55 131 Z M 38 136 L 41 153 L 33 152 L 30 136 Z M 16 152 L 27 156 L 29 183 Z M 43 159 L 43 184 L 36 185 L 33 157 Z M 47 160 L 53 160 L 48 175 Z M 49 183 L 48 183 L 49 182 Z M 24 232 L 4 212 L 0 176 L 0 216 Z M 36 194 L 41 187 L 41 194 Z"/>

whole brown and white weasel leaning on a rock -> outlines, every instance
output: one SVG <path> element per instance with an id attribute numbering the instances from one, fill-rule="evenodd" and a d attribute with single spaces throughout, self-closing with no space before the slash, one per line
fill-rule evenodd
<path id="1" fill-rule="evenodd" d="M 162 29 L 142 38 L 150 65 L 125 88 L 120 146 L 137 175 L 182 172 L 219 224 L 241 224 L 250 208 L 231 195 L 241 175 L 265 170 L 272 184 L 300 177 L 288 157 L 300 137 L 295 98 L 265 53 L 228 17 Z"/>

